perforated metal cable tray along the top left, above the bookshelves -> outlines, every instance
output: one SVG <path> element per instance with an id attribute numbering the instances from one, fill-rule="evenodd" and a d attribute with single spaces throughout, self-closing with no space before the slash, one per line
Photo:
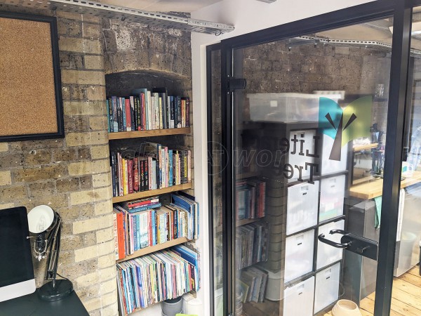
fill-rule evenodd
<path id="1" fill-rule="evenodd" d="M 199 32 L 220 35 L 234 31 L 232 25 L 192 18 L 183 18 L 166 13 L 141 11 L 123 6 L 100 4 L 95 1 L 81 0 L 0 0 L 0 4 L 36 8 L 44 10 L 59 10 L 70 13 L 92 15 L 99 18 L 116 19 L 126 22 L 144 23 L 158 27 L 182 29 L 188 32 Z"/>

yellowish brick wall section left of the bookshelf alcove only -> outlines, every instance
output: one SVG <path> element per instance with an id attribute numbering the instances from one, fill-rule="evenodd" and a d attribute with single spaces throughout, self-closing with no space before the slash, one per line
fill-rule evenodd
<path id="1" fill-rule="evenodd" d="M 0 207 L 47 204 L 58 211 L 58 272 L 90 315 L 116 315 L 102 27 L 98 18 L 57 17 L 65 138 L 0 144 Z M 40 286 L 45 260 L 34 261 L 34 270 Z"/>

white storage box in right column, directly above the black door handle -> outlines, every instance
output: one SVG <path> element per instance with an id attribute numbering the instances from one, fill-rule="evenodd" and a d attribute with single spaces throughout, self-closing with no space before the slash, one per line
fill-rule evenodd
<path id="1" fill-rule="evenodd" d="M 344 213 L 345 175 L 320 180 L 319 221 Z"/>

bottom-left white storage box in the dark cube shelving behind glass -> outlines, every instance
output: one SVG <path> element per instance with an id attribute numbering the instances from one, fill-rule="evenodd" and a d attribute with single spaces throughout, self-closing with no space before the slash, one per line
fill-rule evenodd
<path id="1" fill-rule="evenodd" d="M 314 277 L 283 291 L 283 316 L 313 315 Z"/>

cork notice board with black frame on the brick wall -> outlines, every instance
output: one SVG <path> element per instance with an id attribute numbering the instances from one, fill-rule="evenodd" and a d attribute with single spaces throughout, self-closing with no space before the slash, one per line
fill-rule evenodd
<path id="1" fill-rule="evenodd" d="M 0 141 L 64 136 L 55 18 L 0 13 Z"/>

